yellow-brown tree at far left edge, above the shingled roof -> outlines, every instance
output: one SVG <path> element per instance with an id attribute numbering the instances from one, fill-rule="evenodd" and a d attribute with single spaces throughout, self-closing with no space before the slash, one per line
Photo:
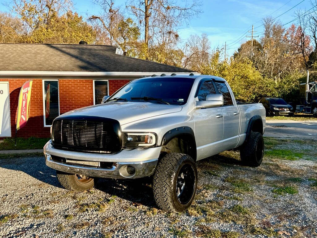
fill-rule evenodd
<path id="1" fill-rule="evenodd" d="M 22 32 L 22 22 L 19 18 L 0 12 L 0 43 L 18 43 Z"/>

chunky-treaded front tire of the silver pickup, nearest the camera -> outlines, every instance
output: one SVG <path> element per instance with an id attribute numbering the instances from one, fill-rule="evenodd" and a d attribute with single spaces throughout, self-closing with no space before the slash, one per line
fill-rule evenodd
<path id="1" fill-rule="evenodd" d="M 187 183 L 189 187 L 193 188 L 191 192 L 187 193 L 188 200 L 185 203 L 181 203 L 177 195 L 177 182 L 179 172 L 184 168 L 189 169 L 189 176 L 192 178 L 192 182 Z M 184 182 L 186 186 L 186 182 Z M 153 174 L 153 195 L 156 204 L 159 208 L 168 212 L 181 212 L 191 206 L 197 189 L 197 167 L 196 162 L 191 156 L 179 153 L 170 153 L 163 156 L 155 169 Z M 186 191 L 186 190 L 185 190 Z M 192 194 L 191 194 L 192 193 Z"/>

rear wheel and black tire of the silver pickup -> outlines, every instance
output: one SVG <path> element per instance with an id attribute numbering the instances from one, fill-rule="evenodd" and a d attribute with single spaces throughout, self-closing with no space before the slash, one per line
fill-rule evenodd
<path id="1" fill-rule="evenodd" d="M 263 136 L 259 132 L 251 131 L 249 138 L 240 148 L 240 158 L 244 165 L 258 167 L 264 154 Z"/>

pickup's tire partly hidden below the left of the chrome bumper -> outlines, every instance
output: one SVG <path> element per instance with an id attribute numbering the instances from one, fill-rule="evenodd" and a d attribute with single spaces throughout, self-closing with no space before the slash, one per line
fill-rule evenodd
<path id="1" fill-rule="evenodd" d="M 73 191 L 89 190 L 90 188 L 94 187 L 94 183 L 95 183 L 94 178 L 89 178 L 87 182 L 81 183 L 76 178 L 77 175 L 69 174 L 59 170 L 56 170 L 56 176 L 61 186 L 63 186 L 64 188 L 68 190 L 73 190 Z"/>

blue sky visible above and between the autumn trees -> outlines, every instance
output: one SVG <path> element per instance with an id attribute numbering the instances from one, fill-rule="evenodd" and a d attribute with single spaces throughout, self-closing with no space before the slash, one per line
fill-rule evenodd
<path id="1" fill-rule="evenodd" d="M 201 35 L 202 33 L 206 33 L 212 48 L 216 48 L 218 45 L 222 46 L 227 42 L 227 44 L 229 44 L 229 49 L 227 50 L 228 55 L 232 55 L 237 47 L 247 40 L 245 37 L 246 34 L 244 34 L 241 40 L 234 44 L 233 42 L 240 36 L 243 36 L 243 33 L 247 31 L 248 28 L 251 30 L 252 24 L 254 24 L 254 27 L 260 26 L 263 17 L 273 12 L 272 17 L 277 17 L 301 1 L 302 0 L 202 0 L 203 13 L 201 13 L 199 17 L 192 19 L 188 25 L 184 24 L 178 31 L 179 36 L 182 39 L 182 43 L 184 43 L 191 34 Z M 99 13 L 98 6 L 92 4 L 92 1 L 73 0 L 73 2 L 75 10 L 84 17 Z M 123 0 L 115 1 L 116 5 L 122 6 L 123 8 L 125 7 L 125 2 L 126 1 Z M 180 2 L 182 3 L 184 1 Z M 283 6 L 284 4 L 286 5 Z M 282 23 L 293 20 L 295 18 L 294 11 L 299 8 L 303 10 L 310 9 L 310 1 L 304 0 L 278 19 L 280 19 Z M 1 4 L 0 10 L 5 11 L 6 8 Z M 291 23 L 289 23 L 289 25 L 290 24 Z M 259 27 L 256 30 L 261 32 L 263 28 Z"/>

